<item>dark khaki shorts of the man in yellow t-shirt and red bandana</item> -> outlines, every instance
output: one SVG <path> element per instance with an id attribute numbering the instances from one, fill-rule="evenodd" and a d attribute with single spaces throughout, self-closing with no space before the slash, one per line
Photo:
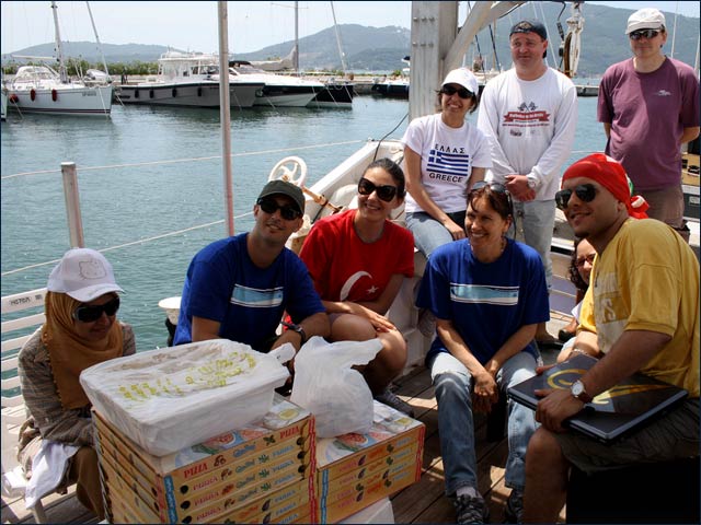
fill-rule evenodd
<path id="1" fill-rule="evenodd" d="M 554 436 L 567 460 L 586 474 L 698 456 L 699 398 L 610 445 L 572 431 Z"/>

